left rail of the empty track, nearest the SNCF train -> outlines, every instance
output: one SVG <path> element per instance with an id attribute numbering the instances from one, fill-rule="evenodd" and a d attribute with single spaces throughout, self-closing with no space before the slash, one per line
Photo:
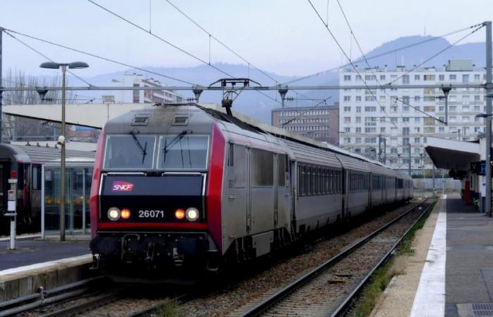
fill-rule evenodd
<path id="1" fill-rule="evenodd" d="M 428 200 L 428 199 L 427 199 Z M 425 201 L 427 201 L 425 200 Z M 300 278 L 297 278 L 297 280 L 294 280 L 294 282 L 289 283 L 289 285 L 282 287 L 281 290 L 277 291 L 275 294 L 271 295 L 267 299 L 264 299 L 261 303 L 256 304 L 254 307 L 246 311 L 242 316 L 259 316 L 261 313 L 269 309 L 271 306 L 274 306 L 277 302 L 280 302 L 283 298 L 287 297 L 289 294 L 292 294 L 295 292 L 299 287 L 305 285 L 307 282 L 310 282 L 313 280 L 313 278 L 316 278 L 320 273 L 323 273 L 326 271 L 328 268 L 335 266 L 335 264 L 339 263 L 339 261 L 342 261 L 342 259 L 346 258 L 350 254 L 354 253 L 357 249 L 362 247 L 364 244 L 369 242 L 370 240 L 373 239 L 376 235 L 380 234 L 380 232 L 386 230 L 389 228 L 391 225 L 394 223 L 397 223 L 397 221 L 401 220 L 401 218 L 404 218 L 404 216 L 407 216 L 409 213 L 414 211 L 416 208 L 421 206 L 422 204 L 425 203 L 425 201 L 421 201 L 418 204 L 415 204 L 412 206 L 408 211 L 405 211 L 401 215 L 399 215 L 397 218 L 394 218 L 393 220 L 389 221 L 389 223 L 383 225 L 382 227 L 378 228 L 377 230 L 373 231 L 366 237 L 361 238 L 360 240 L 354 242 L 353 244 L 349 245 L 346 249 L 342 250 L 339 252 L 339 254 L 333 256 L 331 259 L 328 259 L 324 263 L 320 264 L 320 266 L 317 266 L 314 268 L 312 271 L 306 273 L 305 275 L 301 276 Z"/>

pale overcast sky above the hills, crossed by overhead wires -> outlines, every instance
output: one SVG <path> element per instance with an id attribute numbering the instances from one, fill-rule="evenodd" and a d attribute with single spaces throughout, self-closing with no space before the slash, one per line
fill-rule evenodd
<path id="1" fill-rule="evenodd" d="M 209 61 L 209 39 L 166 0 L 94 0 L 156 35 Z M 280 75 L 306 75 L 345 60 L 307 0 L 172 0 L 212 35 L 254 66 Z M 442 35 L 493 18 L 492 0 L 339 0 L 364 51 L 397 37 Z M 356 54 L 337 0 L 313 0 L 345 51 Z M 150 17 L 149 17 L 150 15 Z M 0 26 L 113 58 L 135 66 L 196 66 L 177 49 L 137 30 L 87 0 L 0 0 Z M 465 35 L 462 33 L 461 35 Z M 450 37 L 453 41 L 458 36 Z M 17 36 L 17 35 L 16 35 Z M 84 77 L 125 69 L 105 61 L 18 36 L 55 61 L 82 60 Z M 477 32 L 466 42 L 483 42 Z M 350 49 L 352 46 L 352 49 Z M 4 34 L 4 72 L 8 68 L 46 75 L 45 58 Z M 244 63 L 211 42 L 211 62 Z M 214 71 L 214 70 L 211 70 Z M 218 76 L 219 77 L 219 76 Z"/>

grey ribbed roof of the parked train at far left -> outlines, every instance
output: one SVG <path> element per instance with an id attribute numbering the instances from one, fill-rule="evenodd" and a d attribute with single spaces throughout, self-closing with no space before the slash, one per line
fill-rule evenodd
<path id="1" fill-rule="evenodd" d="M 12 145 L 0 144 L 0 160 L 15 160 L 20 163 L 47 163 L 60 159 L 61 149 L 55 147 L 42 147 L 37 145 Z M 66 150 L 67 161 L 94 160 L 94 151 Z"/>

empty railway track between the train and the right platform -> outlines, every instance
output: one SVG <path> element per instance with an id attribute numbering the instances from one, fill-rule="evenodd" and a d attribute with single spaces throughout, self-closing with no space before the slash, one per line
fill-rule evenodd
<path id="1" fill-rule="evenodd" d="M 428 211 L 423 201 L 336 256 L 249 306 L 242 316 L 342 316 L 370 276 L 392 255 L 407 232 Z"/>

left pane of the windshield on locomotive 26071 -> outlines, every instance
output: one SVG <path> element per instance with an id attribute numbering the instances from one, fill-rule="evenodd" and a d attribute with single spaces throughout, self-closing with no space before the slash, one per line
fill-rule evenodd
<path id="1" fill-rule="evenodd" d="M 152 168 L 154 135 L 108 135 L 104 168 Z"/>

